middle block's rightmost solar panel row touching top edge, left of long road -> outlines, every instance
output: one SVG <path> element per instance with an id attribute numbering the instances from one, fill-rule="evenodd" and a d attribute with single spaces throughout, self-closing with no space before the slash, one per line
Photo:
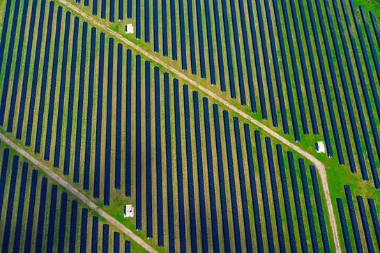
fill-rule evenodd
<path id="1" fill-rule="evenodd" d="M 43 78 L 42 78 L 41 90 L 40 90 L 40 106 L 38 107 L 36 143 L 34 145 L 34 152 L 35 153 L 40 153 L 40 148 L 41 148 L 42 128 L 43 128 L 43 119 L 44 119 L 44 112 L 45 112 L 47 71 L 49 70 L 50 45 L 52 42 L 53 13 L 54 13 L 54 2 L 51 1 L 50 7 L 49 7 L 49 17 L 47 20 L 47 30 L 46 30 L 46 39 L 45 39 L 45 55 L 44 55 L 44 61 L 43 61 Z M 4 89 L 5 88 L 6 87 L 4 86 Z M 3 102 L 5 100 L 1 100 L 1 101 Z"/>

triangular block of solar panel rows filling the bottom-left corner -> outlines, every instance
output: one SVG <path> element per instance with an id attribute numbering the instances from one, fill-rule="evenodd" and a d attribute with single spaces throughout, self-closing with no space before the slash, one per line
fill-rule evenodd
<path id="1" fill-rule="evenodd" d="M 32 170 L 33 165 L 24 162 L 15 151 L 0 149 L 0 164 L 4 166 L 0 175 L 6 175 L 4 168 L 8 174 L 5 196 L 0 202 L 6 208 L 0 224 L 1 252 L 98 252 L 103 247 L 103 242 L 98 241 L 102 234 L 98 226 L 109 231 L 104 245 L 109 250 L 141 250 L 134 249 L 135 244 L 131 245 L 123 233 L 100 221 L 92 210 L 39 175 L 39 171 Z M 128 247 L 121 240 L 128 241 Z"/>

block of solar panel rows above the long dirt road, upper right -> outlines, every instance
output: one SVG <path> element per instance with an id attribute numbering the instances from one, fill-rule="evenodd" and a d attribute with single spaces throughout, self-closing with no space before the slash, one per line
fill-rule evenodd
<path id="1" fill-rule="evenodd" d="M 264 120 L 271 114 L 267 125 L 282 127 L 285 135 L 293 129 L 295 141 L 304 141 L 310 132 L 319 135 L 321 127 L 328 157 L 336 155 L 340 164 L 347 164 L 354 173 L 360 169 L 364 181 L 373 180 L 374 186 L 380 187 L 375 165 L 380 160 L 375 124 L 380 118 L 375 85 L 380 78 L 376 17 L 372 13 L 367 19 L 363 6 L 358 13 L 354 1 L 349 1 L 349 6 L 337 0 L 263 3 L 165 0 L 159 4 L 146 0 L 130 1 L 127 8 L 122 3 L 107 8 L 111 16 L 112 8 L 119 8 L 119 15 L 122 7 L 127 9 L 121 13 L 128 13 L 127 19 L 119 22 L 134 24 L 136 39 L 144 37 L 145 43 L 151 43 L 151 52 L 162 52 L 160 57 L 169 65 L 181 61 L 182 70 L 206 78 L 202 84 L 218 84 L 221 91 L 239 98 L 241 105 L 248 105 Z M 99 4 L 89 3 L 93 8 Z M 282 23 L 284 26 L 278 25 Z M 311 26 L 306 25 L 309 23 Z M 334 72 L 339 75 L 331 75 Z M 359 86 L 354 85 L 358 82 Z"/>

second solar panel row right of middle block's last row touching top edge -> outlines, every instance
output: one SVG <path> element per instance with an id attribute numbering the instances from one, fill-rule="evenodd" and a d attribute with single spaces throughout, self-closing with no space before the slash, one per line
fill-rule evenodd
<path id="1" fill-rule="evenodd" d="M 65 88 L 66 88 L 66 73 L 68 62 L 68 41 L 70 36 L 70 17 L 71 13 L 66 12 L 65 23 L 65 39 L 63 40 L 63 56 L 62 56 L 62 70 L 61 70 L 61 86 L 59 88 L 59 104 L 58 104 L 58 117 L 56 123 L 56 145 L 54 151 L 54 167 L 59 167 L 59 159 L 61 158 L 61 137 L 63 126 L 63 107 L 65 101 Z M 24 89 L 24 87 L 23 87 Z M 25 90 L 26 93 L 26 90 Z M 19 114 L 20 116 L 20 114 Z M 21 137 L 21 133 L 20 133 Z"/>

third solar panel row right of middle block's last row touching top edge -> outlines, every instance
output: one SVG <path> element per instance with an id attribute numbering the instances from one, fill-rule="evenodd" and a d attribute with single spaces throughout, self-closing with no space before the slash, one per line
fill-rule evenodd
<path id="1" fill-rule="evenodd" d="M 63 164 L 63 174 L 68 175 L 70 173 L 70 153 L 71 153 L 71 136 L 73 134 L 73 111 L 74 111 L 74 99 L 75 99 L 75 77 L 77 69 L 77 47 L 78 47 L 78 26 L 79 17 L 74 18 L 74 37 L 73 52 L 71 54 L 71 69 L 70 69 L 70 89 L 68 95 L 68 118 L 66 127 L 66 145 L 65 145 L 65 162 Z"/>

